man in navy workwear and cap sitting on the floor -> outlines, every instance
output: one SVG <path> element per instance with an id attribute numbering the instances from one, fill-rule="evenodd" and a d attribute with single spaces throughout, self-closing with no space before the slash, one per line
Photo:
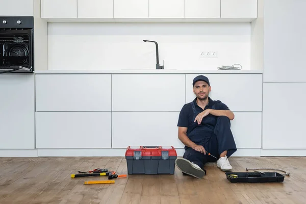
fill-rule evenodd
<path id="1" fill-rule="evenodd" d="M 220 100 L 209 97 L 211 86 L 207 77 L 198 75 L 192 85 L 196 98 L 183 106 L 177 123 L 179 139 L 185 144 L 184 159 L 177 158 L 175 165 L 198 178 L 206 174 L 203 167 L 207 162 L 217 161 L 222 171 L 231 171 L 233 167 L 227 158 L 237 151 L 230 129 L 234 113 Z"/>

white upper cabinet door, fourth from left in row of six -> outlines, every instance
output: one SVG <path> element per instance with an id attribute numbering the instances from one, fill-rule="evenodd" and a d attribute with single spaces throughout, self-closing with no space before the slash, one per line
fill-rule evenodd
<path id="1" fill-rule="evenodd" d="M 184 18 L 184 0 L 150 0 L 150 18 Z"/>

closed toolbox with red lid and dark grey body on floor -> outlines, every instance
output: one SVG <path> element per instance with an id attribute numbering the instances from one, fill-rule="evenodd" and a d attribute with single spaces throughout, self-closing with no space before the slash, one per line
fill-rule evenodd
<path id="1" fill-rule="evenodd" d="M 129 146 L 125 152 L 128 174 L 174 174 L 173 146 Z"/>

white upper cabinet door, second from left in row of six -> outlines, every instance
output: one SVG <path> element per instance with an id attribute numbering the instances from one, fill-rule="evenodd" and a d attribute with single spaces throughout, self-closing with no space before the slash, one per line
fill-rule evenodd
<path id="1" fill-rule="evenodd" d="M 113 18 L 113 0 L 78 0 L 78 18 Z"/>

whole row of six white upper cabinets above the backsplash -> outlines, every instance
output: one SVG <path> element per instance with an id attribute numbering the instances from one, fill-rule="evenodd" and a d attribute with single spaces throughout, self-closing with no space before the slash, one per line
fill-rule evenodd
<path id="1" fill-rule="evenodd" d="M 257 0 L 41 0 L 41 17 L 67 22 L 245 22 L 257 18 Z"/>

